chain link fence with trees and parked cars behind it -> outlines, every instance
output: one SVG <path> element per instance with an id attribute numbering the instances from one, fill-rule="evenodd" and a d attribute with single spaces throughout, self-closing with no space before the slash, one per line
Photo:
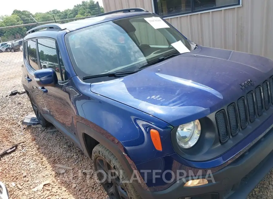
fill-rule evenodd
<path id="1" fill-rule="evenodd" d="M 42 24 L 67 23 L 103 13 L 103 7 L 93 0 L 83 1 L 72 9 L 52 10 L 45 13 L 14 10 L 11 16 L 0 16 L 0 96 L 13 90 L 23 90 L 22 39 L 25 33 Z"/>

